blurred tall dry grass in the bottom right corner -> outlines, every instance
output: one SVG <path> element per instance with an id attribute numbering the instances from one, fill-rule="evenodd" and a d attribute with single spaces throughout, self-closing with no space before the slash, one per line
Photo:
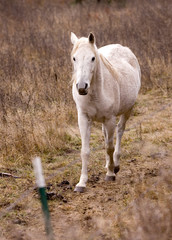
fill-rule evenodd
<path id="1" fill-rule="evenodd" d="M 171 163 L 163 169 L 156 185 L 150 185 L 121 219 L 122 240 L 170 240 L 172 238 Z M 139 189 L 139 192 L 141 190 Z"/>

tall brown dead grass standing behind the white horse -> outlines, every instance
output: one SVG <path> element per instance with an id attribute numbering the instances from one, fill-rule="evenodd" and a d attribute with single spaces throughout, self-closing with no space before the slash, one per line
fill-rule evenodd
<path id="1" fill-rule="evenodd" d="M 130 47 L 142 91 L 171 89 L 171 1 L 0 2 L 0 158 L 27 160 L 66 149 L 76 122 L 71 96 L 70 32 L 97 45 Z M 75 120 L 75 121 L 74 121 Z M 5 162 L 4 161 L 4 162 Z M 8 162 L 8 161 L 7 161 Z"/>

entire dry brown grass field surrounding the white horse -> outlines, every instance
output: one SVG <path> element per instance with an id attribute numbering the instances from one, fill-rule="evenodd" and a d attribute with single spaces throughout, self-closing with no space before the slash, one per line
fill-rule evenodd
<path id="1" fill-rule="evenodd" d="M 0 176 L 0 213 L 33 187 L 35 155 L 47 178 L 76 160 L 47 180 L 56 239 L 172 239 L 171 9 L 169 0 L 0 1 L 0 173 L 20 177 Z M 73 193 L 81 141 L 71 94 L 71 31 L 94 32 L 98 47 L 130 47 L 142 70 L 117 181 L 104 182 L 104 142 L 95 123 L 83 195 Z M 43 231 L 35 190 L 1 218 L 1 239 L 43 239 Z"/>

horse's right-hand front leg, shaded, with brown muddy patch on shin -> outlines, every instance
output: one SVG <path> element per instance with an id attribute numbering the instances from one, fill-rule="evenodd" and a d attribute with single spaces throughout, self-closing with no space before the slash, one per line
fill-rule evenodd
<path id="1" fill-rule="evenodd" d="M 113 181 L 115 180 L 114 173 L 114 132 L 115 132 L 115 117 L 110 120 L 105 121 L 103 124 L 103 133 L 105 136 L 105 145 L 106 145 L 106 167 L 107 173 L 105 180 Z"/>

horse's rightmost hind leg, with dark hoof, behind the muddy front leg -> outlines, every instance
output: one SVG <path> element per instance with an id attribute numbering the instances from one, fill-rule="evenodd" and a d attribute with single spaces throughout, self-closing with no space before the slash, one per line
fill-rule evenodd
<path id="1" fill-rule="evenodd" d="M 130 117 L 131 110 L 128 111 L 127 113 L 124 113 L 121 115 L 119 123 L 117 125 L 116 129 L 116 145 L 115 145 L 115 152 L 114 152 L 114 162 L 115 162 L 115 168 L 114 172 L 117 173 L 120 169 L 119 167 L 119 159 L 121 155 L 121 139 L 125 130 L 125 125 L 127 120 Z"/>

